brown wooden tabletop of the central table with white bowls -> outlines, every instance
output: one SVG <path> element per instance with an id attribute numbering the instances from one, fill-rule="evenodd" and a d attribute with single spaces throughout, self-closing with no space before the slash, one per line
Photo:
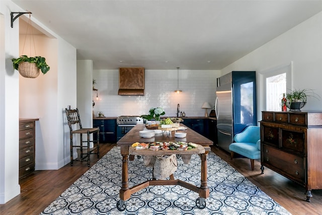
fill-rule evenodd
<path id="1" fill-rule="evenodd" d="M 185 126 L 180 123 L 180 126 Z M 185 138 L 177 138 L 175 137 L 175 131 L 171 132 L 171 136 L 167 136 L 166 134 L 156 134 L 152 138 L 142 138 L 139 136 L 139 131 L 145 128 L 145 124 L 137 124 L 135 125 L 127 134 L 125 134 L 118 142 L 117 146 L 131 146 L 134 142 L 177 142 L 177 141 L 185 141 L 185 142 L 193 142 L 194 144 L 199 144 L 203 147 L 212 146 L 213 142 L 197 133 L 196 131 L 187 128 L 186 130 L 178 130 L 177 132 L 186 132 L 187 136 Z"/>

